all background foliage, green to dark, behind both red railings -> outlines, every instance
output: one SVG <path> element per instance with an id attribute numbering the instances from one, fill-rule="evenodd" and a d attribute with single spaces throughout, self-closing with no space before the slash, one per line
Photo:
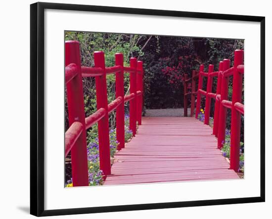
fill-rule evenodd
<path id="1" fill-rule="evenodd" d="M 81 46 L 82 65 L 93 66 L 93 52 L 104 51 L 106 66 L 113 66 L 115 53 L 124 54 L 124 65 L 129 66 L 130 57 L 137 57 L 144 63 L 144 108 L 166 109 L 183 107 L 184 74 L 191 77 L 193 69 L 200 64 L 214 64 L 218 70 L 219 61 L 224 58 L 233 64 L 234 51 L 243 49 L 243 40 L 193 38 L 174 36 L 150 36 L 136 34 L 66 32 L 65 40 L 78 40 Z M 86 116 L 96 110 L 95 84 L 93 78 L 84 78 Z M 115 77 L 107 75 L 108 101 L 115 99 Z M 213 81 L 213 92 L 217 79 Z M 229 99 L 232 92 L 232 78 L 229 82 Z M 206 80 L 203 82 L 206 89 Z M 129 93 L 129 75 L 125 74 L 125 94 Z M 204 109 L 205 100 L 202 100 Z M 190 102 L 189 102 L 190 105 Z M 128 111 L 128 105 L 126 106 Z M 212 110 L 213 112 L 213 104 Z M 66 118 L 67 118 L 66 108 Z M 213 116 L 213 114 L 211 115 Z M 242 118 L 243 119 L 243 118 Z M 242 121 L 243 124 L 243 121 Z M 115 126 L 115 114 L 110 115 L 110 126 Z M 66 119 L 66 128 L 68 121 Z M 230 128 L 228 110 L 227 128 Z M 243 129 L 243 127 L 242 127 Z"/>

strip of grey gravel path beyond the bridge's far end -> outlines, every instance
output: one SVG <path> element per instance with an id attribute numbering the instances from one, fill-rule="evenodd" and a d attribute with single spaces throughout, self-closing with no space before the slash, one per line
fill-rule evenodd
<path id="1" fill-rule="evenodd" d="M 171 117 L 171 116 L 184 116 L 183 108 L 179 109 L 156 109 L 156 110 L 145 110 L 145 116 L 154 116 L 154 117 Z M 188 115 L 190 115 L 190 109 L 188 108 Z"/>

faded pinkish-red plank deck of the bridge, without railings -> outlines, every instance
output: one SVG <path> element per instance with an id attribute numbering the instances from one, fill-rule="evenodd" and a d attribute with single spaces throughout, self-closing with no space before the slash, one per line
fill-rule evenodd
<path id="1" fill-rule="evenodd" d="M 142 117 L 104 184 L 239 178 L 228 168 L 208 125 L 193 117 Z"/>

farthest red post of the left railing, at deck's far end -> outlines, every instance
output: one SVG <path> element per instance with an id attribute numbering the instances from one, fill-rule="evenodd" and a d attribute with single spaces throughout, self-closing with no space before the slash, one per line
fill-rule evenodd
<path id="1" fill-rule="evenodd" d="M 137 69 L 140 72 L 136 73 L 136 90 L 141 92 L 140 96 L 137 96 L 137 121 L 138 125 L 141 125 L 141 112 L 142 112 L 142 96 L 143 96 L 143 84 L 142 84 L 142 61 L 137 61 Z"/>

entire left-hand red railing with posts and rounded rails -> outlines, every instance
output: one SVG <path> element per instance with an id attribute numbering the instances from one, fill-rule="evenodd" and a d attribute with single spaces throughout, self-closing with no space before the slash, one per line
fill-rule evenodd
<path id="1" fill-rule="evenodd" d="M 130 94 L 124 96 L 124 72 L 130 72 Z M 106 74 L 115 74 L 116 99 L 108 104 Z M 95 77 L 97 111 L 85 118 L 82 77 Z M 130 129 L 136 134 L 136 122 L 141 125 L 143 67 L 142 61 L 130 59 L 124 66 L 123 54 L 115 54 L 115 66 L 105 67 L 103 52 L 94 52 L 94 67 L 81 66 L 80 45 L 65 42 L 65 83 L 69 129 L 65 133 L 65 157 L 71 151 L 73 186 L 87 186 L 88 159 L 86 129 L 98 122 L 99 161 L 103 174 L 111 174 L 109 117 L 116 110 L 116 138 L 118 150 L 125 147 L 124 103 L 130 101 Z"/>

